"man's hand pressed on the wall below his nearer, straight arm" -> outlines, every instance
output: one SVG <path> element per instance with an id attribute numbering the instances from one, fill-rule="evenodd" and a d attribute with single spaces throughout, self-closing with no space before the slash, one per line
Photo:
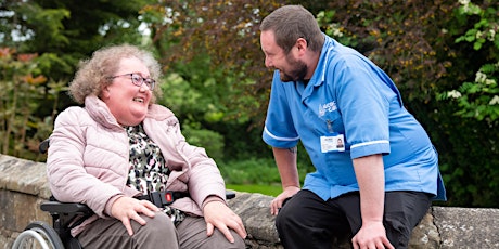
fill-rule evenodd
<path id="1" fill-rule="evenodd" d="M 381 221 L 362 224 L 351 244 L 354 249 L 395 249 L 386 238 L 386 231 Z"/>

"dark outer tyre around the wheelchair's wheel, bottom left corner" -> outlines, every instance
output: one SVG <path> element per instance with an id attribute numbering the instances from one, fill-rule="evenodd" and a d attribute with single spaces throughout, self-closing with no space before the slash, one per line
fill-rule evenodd
<path id="1" fill-rule="evenodd" d="M 35 236 L 31 235 L 33 232 L 40 235 L 50 248 L 64 249 L 64 245 L 54 228 L 42 221 L 35 221 L 29 223 L 24 232 L 17 236 L 17 239 L 14 241 L 15 247 L 13 246 L 13 249 L 24 248 L 22 246 L 31 240 L 40 243 Z"/>

